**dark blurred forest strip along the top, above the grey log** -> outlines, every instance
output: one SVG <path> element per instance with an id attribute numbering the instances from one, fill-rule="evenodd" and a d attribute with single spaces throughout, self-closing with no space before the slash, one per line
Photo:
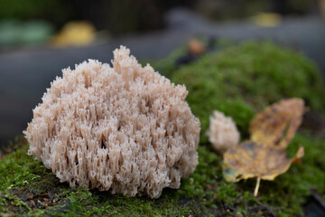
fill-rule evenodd
<path id="1" fill-rule="evenodd" d="M 162 29 L 166 26 L 163 14 L 176 6 L 189 8 L 211 21 L 225 21 L 246 19 L 261 12 L 319 14 L 322 4 L 321 0 L 1 0 L 0 19 L 2 23 L 40 20 L 54 32 L 71 20 L 87 20 L 96 30 L 118 36 Z"/>

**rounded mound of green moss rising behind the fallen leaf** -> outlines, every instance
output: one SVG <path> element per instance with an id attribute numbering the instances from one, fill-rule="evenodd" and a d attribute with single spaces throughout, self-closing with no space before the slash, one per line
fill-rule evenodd
<path id="1" fill-rule="evenodd" d="M 172 81 L 185 84 L 202 134 L 218 109 L 237 122 L 247 136 L 256 111 L 283 98 L 300 97 L 311 109 L 325 107 L 320 72 L 300 53 L 271 42 L 245 42 L 173 71 Z M 206 141 L 201 137 L 201 142 Z"/>

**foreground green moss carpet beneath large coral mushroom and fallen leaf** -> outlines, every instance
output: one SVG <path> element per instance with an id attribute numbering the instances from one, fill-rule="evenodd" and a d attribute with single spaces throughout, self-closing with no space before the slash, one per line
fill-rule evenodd
<path id="1" fill-rule="evenodd" d="M 146 196 L 128 198 L 89 191 L 83 187 L 70 189 L 41 162 L 25 155 L 27 146 L 24 146 L 5 156 L 5 161 L 1 162 L 0 175 L 7 175 L 8 179 L 2 179 L 1 183 L 0 213 L 32 216 L 75 216 L 76 213 L 81 216 L 213 216 L 224 213 L 230 216 L 242 212 L 254 216 L 256 213 L 249 208 L 264 205 L 280 216 L 292 216 L 302 212 L 301 205 L 310 189 L 325 193 L 325 160 L 320 152 L 325 146 L 324 140 L 299 134 L 293 139 L 289 153 L 293 154 L 299 145 L 305 147 L 302 164 L 292 165 L 288 173 L 280 175 L 274 182 L 262 181 L 256 198 L 253 196 L 254 179 L 226 183 L 222 178 L 221 156 L 208 146 L 200 146 L 200 164 L 195 173 L 182 180 L 179 190 L 164 189 L 163 195 L 155 200 Z M 33 200 L 40 200 L 41 205 L 33 207 L 31 200 L 23 201 L 26 192 L 32 192 Z M 46 208 L 48 202 L 42 200 L 42 195 L 47 193 L 53 195 L 56 205 L 49 203 Z"/>

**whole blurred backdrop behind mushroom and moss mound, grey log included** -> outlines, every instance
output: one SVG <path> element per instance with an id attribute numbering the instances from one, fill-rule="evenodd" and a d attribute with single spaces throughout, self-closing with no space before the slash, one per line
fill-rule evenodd
<path id="1" fill-rule="evenodd" d="M 197 35 L 268 39 L 325 70 L 325 0 L 0 0 L 0 146 L 22 133 L 60 70 L 124 44 L 157 60 Z"/>

